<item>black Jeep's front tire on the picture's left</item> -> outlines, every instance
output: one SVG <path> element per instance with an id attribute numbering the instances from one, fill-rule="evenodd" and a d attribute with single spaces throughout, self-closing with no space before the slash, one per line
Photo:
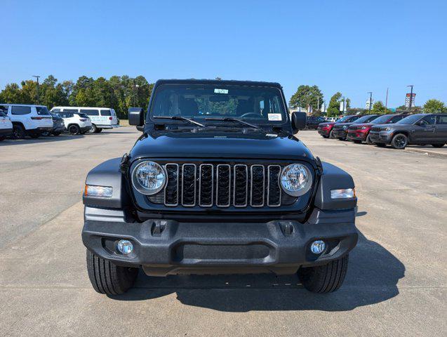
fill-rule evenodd
<path id="1" fill-rule="evenodd" d="M 131 289 L 138 275 L 138 268 L 121 267 L 87 250 L 88 278 L 93 289 L 107 295 L 120 295 Z"/>

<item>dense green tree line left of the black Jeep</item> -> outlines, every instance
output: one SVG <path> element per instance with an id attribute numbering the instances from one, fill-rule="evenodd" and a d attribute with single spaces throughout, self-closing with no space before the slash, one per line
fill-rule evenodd
<path id="1" fill-rule="evenodd" d="M 59 82 L 53 75 L 39 84 L 39 104 L 49 109 L 55 106 L 112 107 L 119 118 L 127 118 L 129 107 L 147 109 L 154 84 L 143 76 L 135 78 L 124 76 L 105 77 L 81 76 L 73 81 Z M 0 103 L 37 104 L 37 82 L 31 79 L 7 84 L 0 91 Z"/>

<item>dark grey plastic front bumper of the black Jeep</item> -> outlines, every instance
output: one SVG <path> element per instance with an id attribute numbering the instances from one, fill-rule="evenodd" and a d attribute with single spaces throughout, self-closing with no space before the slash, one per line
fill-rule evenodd
<path id="1" fill-rule="evenodd" d="M 103 216 L 103 213 L 109 215 Z M 148 275 L 275 272 L 293 274 L 301 265 L 319 265 L 344 256 L 358 234 L 354 209 L 314 209 L 306 223 L 180 223 L 147 220 L 126 223 L 113 212 L 86 206 L 82 240 L 88 250 L 117 265 L 142 266 Z M 129 256 L 116 251 L 119 239 L 131 240 Z M 317 256 L 309 245 L 316 239 L 328 249 Z"/>

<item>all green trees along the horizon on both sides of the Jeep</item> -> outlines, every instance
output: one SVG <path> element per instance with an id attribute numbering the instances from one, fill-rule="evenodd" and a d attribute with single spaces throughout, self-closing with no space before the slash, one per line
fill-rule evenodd
<path id="1" fill-rule="evenodd" d="M 143 107 L 147 109 L 149 98 L 154 84 L 149 83 L 145 77 L 135 78 L 124 76 L 105 77 L 81 76 L 74 81 L 59 82 L 53 75 L 49 75 L 39 85 L 39 104 L 48 108 L 54 106 L 80 106 L 80 107 L 112 107 L 119 118 L 127 118 L 129 107 Z M 0 91 L 0 103 L 36 104 L 37 102 L 37 82 L 31 79 L 16 83 L 7 84 Z M 361 112 L 368 114 L 370 111 L 362 108 L 352 108 L 351 100 L 343 97 L 342 93 L 334 93 L 329 100 L 326 116 L 336 117 L 340 112 L 340 103 L 345 100 L 347 112 L 354 114 Z M 318 86 L 298 86 L 297 91 L 289 100 L 289 107 L 296 109 L 302 107 L 312 107 L 313 114 L 321 115 L 321 105 L 324 103 L 323 93 Z M 406 110 L 405 106 L 397 107 L 398 112 Z M 447 112 L 446 105 L 440 100 L 427 100 L 423 107 L 413 107 L 412 112 Z M 389 110 L 379 100 L 374 103 L 371 114 L 385 114 Z"/>

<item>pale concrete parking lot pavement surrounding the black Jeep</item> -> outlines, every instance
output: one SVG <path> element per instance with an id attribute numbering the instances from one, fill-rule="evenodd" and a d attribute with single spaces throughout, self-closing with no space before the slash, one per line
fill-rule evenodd
<path id="1" fill-rule="evenodd" d="M 141 275 L 93 291 L 81 242 L 86 173 L 135 128 L 0 144 L 2 336 L 445 336 L 447 157 L 299 138 L 354 177 L 359 244 L 328 295 L 295 277 Z"/>

